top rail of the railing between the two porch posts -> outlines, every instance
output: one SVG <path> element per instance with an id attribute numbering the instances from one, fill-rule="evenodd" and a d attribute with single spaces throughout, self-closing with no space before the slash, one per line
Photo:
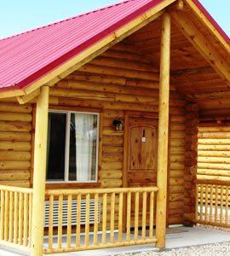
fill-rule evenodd
<path id="1" fill-rule="evenodd" d="M 129 192 L 157 192 L 158 187 L 111 188 L 111 189 L 47 189 L 46 195 L 78 195 Z"/>

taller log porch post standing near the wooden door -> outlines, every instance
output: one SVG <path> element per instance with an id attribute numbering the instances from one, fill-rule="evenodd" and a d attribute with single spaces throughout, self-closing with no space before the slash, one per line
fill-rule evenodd
<path id="1" fill-rule="evenodd" d="M 161 29 L 159 110 L 158 110 L 158 195 L 157 247 L 165 247 L 170 104 L 170 14 L 164 13 Z"/>

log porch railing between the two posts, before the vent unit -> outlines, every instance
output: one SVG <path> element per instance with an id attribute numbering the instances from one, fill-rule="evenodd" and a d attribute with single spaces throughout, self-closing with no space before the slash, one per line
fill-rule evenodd
<path id="1" fill-rule="evenodd" d="M 156 187 L 47 190 L 49 227 L 46 233 L 48 246 L 44 247 L 44 253 L 156 242 L 153 225 L 157 191 Z M 64 201 L 66 212 L 63 210 Z M 91 201 L 94 201 L 94 221 L 89 223 Z M 73 202 L 77 203 L 75 212 L 72 211 Z M 56 205 L 58 224 L 54 225 L 54 214 L 50 213 L 54 212 Z M 85 207 L 84 218 L 81 217 L 81 207 Z M 64 214 L 66 226 L 62 223 Z"/>

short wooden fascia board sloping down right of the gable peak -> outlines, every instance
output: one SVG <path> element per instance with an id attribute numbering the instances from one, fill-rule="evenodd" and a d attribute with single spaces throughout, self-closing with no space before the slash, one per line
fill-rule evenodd
<path id="1" fill-rule="evenodd" d="M 230 54 L 230 44 L 226 41 L 225 38 L 222 37 L 221 33 L 218 32 L 215 26 L 210 22 L 210 20 L 204 15 L 204 13 L 198 9 L 198 6 L 193 2 L 193 0 L 184 0 L 185 3 L 193 10 L 194 14 L 198 17 L 201 22 L 204 23 L 207 28 L 209 28 L 210 32 L 217 38 L 217 40 L 221 43 L 221 45 L 227 49 L 228 54 Z"/>

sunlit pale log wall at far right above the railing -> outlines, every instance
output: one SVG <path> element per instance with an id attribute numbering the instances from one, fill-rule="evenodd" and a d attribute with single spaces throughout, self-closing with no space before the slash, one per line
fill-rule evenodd
<path id="1" fill-rule="evenodd" d="M 230 181 L 230 123 L 201 122 L 198 127 L 199 180 Z"/>

